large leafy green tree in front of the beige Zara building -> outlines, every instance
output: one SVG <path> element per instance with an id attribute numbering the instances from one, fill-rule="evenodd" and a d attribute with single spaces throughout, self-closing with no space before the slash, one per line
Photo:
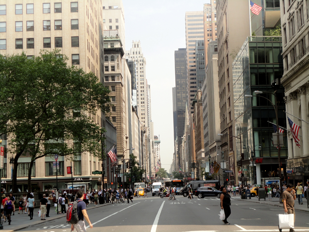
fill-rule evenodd
<path id="1" fill-rule="evenodd" d="M 68 67 L 67 60 L 57 49 L 32 59 L 0 55 L 0 131 L 9 138 L 6 152 L 15 154 L 13 183 L 22 155 L 32 160 L 29 184 L 37 158 L 58 154 L 74 160 L 84 151 L 101 154 L 104 128 L 95 115 L 109 106 L 109 90 L 93 73 Z"/>

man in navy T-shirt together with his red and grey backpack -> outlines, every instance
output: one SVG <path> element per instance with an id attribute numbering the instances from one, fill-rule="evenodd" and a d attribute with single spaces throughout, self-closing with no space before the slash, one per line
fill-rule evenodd
<path id="1" fill-rule="evenodd" d="M 88 222 L 90 228 L 93 228 L 93 225 L 91 224 L 86 211 L 86 203 L 83 201 L 83 190 L 78 190 L 76 196 L 77 199 L 73 202 L 73 204 L 70 204 L 69 206 L 66 214 L 66 220 L 68 223 L 71 224 L 71 231 L 74 231 L 74 229 L 76 229 L 77 232 L 85 232 L 87 231 L 84 221 L 85 219 Z"/>

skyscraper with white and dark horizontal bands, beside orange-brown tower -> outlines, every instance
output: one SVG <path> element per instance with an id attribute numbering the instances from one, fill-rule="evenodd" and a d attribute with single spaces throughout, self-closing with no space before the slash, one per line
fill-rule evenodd
<path id="1" fill-rule="evenodd" d="M 195 41 L 204 38 L 204 12 L 190 11 L 185 15 L 186 26 L 186 49 L 187 49 L 187 70 L 188 70 L 188 105 L 189 113 L 193 114 L 191 103 L 198 88 L 202 88 L 202 83 L 197 83 Z"/>

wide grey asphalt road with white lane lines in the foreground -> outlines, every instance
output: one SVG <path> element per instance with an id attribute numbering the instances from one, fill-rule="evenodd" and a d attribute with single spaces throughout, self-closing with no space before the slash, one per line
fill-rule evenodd
<path id="1" fill-rule="evenodd" d="M 173 201 L 157 196 L 134 198 L 130 204 L 111 204 L 88 211 L 93 228 L 87 231 L 278 231 L 277 215 L 284 213 L 281 207 L 233 199 L 228 218 L 231 225 L 224 225 L 219 219 L 219 205 L 218 198 L 207 197 L 189 200 L 176 196 Z M 308 216 L 308 212 L 296 212 L 295 231 L 309 232 Z M 70 225 L 62 217 L 19 231 L 69 232 Z"/>

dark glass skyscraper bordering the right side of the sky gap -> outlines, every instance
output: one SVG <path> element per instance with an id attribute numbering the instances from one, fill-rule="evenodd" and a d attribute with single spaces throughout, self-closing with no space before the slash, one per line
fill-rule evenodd
<path id="1" fill-rule="evenodd" d="M 180 146 L 184 134 L 184 119 L 186 103 L 188 102 L 188 75 L 187 75 L 187 52 L 185 48 L 175 51 L 175 82 L 176 82 L 176 111 L 177 111 L 177 143 Z M 180 165 L 179 149 L 177 161 Z M 177 167 L 178 168 L 178 167 Z"/>

